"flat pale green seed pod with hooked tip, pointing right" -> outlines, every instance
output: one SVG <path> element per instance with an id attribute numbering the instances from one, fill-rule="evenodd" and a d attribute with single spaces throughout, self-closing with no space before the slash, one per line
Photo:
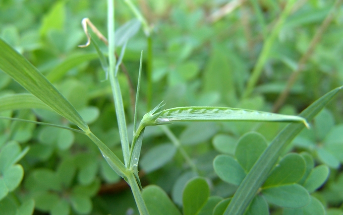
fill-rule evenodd
<path id="1" fill-rule="evenodd" d="M 227 107 L 176 107 L 162 111 L 156 123 L 184 121 L 275 121 L 308 123 L 302 117 Z"/>

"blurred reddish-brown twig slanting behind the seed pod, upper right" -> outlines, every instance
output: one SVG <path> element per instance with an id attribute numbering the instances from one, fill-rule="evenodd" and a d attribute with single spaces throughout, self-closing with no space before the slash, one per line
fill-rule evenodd
<path id="1" fill-rule="evenodd" d="M 305 52 L 305 54 L 303 54 L 303 56 L 299 60 L 295 71 L 288 78 L 288 81 L 287 81 L 287 84 L 286 84 L 286 88 L 280 94 L 280 96 L 278 97 L 276 102 L 274 103 L 274 107 L 273 107 L 273 112 L 274 113 L 278 112 L 280 107 L 285 103 L 286 98 L 289 95 L 291 87 L 293 86 L 293 84 L 297 80 L 300 72 L 303 71 L 305 63 L 308 61 L 308 59 L 313 54 L 313 51 L 314 51 L 316 45 L 319 43 L 319 41 L 320 41 L 322 35 L 324 34 L 325 30 L 328 28 L 329 24 L 334 19 L 335 13 L 336 13 L 337 9 L 339 8 L 339 5 L 340 5 L 341 2 L 342 2 L 342 0 L 336 0 L 336 2 L 333 5 L 332 9 L 330 10 L 329 14 L 326 16 L 326 18 L 322 22 L 321 26 L 316 31 L 316 33 L 315 33 L 314 37 L 312 38 L 312 41 L 311 41 L 307 51 Z"/>

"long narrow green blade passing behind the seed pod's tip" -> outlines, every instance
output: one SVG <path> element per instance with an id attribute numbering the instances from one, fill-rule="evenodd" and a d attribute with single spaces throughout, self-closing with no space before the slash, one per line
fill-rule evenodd
<path id="1" fill-rule="evenodd" d="M 307 107 L 299 116 L 306 118 L 308 121 L 312 120 L 342 88 L 343 87 L 338 87 L 328 92 Z M 224 215 L 244 214 L 258 189 L 268 177 L 268 173 L 277 162 L 280 154 L 303 128 L 304 127 L 301 124 L 292 123 L 279 133 L 245 176 Z"/>

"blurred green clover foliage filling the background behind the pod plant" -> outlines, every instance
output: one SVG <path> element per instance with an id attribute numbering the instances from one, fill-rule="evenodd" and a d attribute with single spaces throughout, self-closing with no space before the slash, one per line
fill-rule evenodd
<path id="1" fill-rule="evenodd" d="M 118 73 L 129 131 L 133 130 L 132 92 L 137 85 L 141 50 L 145 54 L 139 118 L 162 100 L 166 108 L 225 106 L 272 112 L 279 109 L 278 96 L 295 72 L 295 83 L 279 113 L 297 114 L 343 85 L 340 1 L 333 7 L 333 0 L 299 0 L 266 54 L 253 93 L 244 96 L 263 44 L 287 1 L 231 2 L 238 2 L 237 8 L 220 18 L 213 14 L 225 8 L 227 1 L 134 2 L 153 25 L 153 55 L 150 58 L 146 54 L 147 38 L 142 29 L 138 30 L 128 41 L 123 59 L 128 73 Z M 115 4 L 116 28 L 130 20 L 131 26 L 138 28 L 124 2 Z M 106 34 L 106 11 L 106 1 L 1 0 L 0 37 L 46 75 L 93 133 L 122 158 L 110 84 L 104 81 L 106 75 L 94 47 L 77 47 L 86 41 L 80 24 L 84 17 Z M 330 15 L 320 40 L 312 44 Z M 120 38 L 120 31 L 116 33 Z M 93 38 L 101 50 L 107 49 L 95 35 Z M 120 53 L 122 43 L 117 43 Z M 311 47 L 313 52 L 308 53 Z M 307 59 L 302 62 L 304 56 Z M 26 90 L 0 71 L 0 101 L 4 104 L 6 96 L 15 93 Z M 34 109 L 2 107 L 0 115 L 69 126 L 64 118 L 36 105 Z M 304 130 L 293 141 L 247 214 L 343 214 L 342 107 L 339 94 L 311 123 L 312 129 Z M 171 214 L 211 214 L 218 203 L 214 214 L 223 214 L 227 198 L 285 125 L 203 122 L 175 123 L 169 125 L 170 130 L 147 128 L 139 166 L 142 185 L 151 185 L 143 191 L 147 206 L 154 205 L 156 200 L 150 197 L 157 196 L 165 200 Z M 223 174 L 223 169 L 231 174 Z M 285 178 L 287 172 L 291 172 L 289 178 Z M 283 189 L 294 192 L 280 200 L 277 197 Z M 199 195 L 203 199 L 193 201 L 197 191 L 202 191 Z M 311 196 L 301 196 L 301 192 Z M 303 199 L 294 201 L 294 196 Z M 33 211 L 53 215 L 137 214 L 131 191 L 86 137 L 8 120 L 0 120 L 0 200 L 0 214 L 4 215 L 29 215 Z M 303 208 L 293 209 L 299 207 Z"/>

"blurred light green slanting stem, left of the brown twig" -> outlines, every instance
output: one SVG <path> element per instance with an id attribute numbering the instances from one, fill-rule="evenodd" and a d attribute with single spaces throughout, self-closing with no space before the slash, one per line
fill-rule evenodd
<path id="1" fill-rule="evenodd" d="M 266 41 L 263 45 L 262 51 L 261 51 L 261 53 L 257 59 L 255 68 L 254 68 L 254 70 L 250 76 L 250 79 L 247 83 L 246 89 L 243 93 L 243 96 L 242 96 L 243 98 L 248 97 L 252 93 L 252 91 L 253 91 L 253 89 L 254 89 L 257 81 L 258 81 L 258 78 L 260 77 L 260 75 L 262 73 L 263 67 L 268 60 L 269 53 L 272 49 L 274 41 L 277 38 L 284 22 L 286 21 L 287 16 L 290 14 L 294 2 L 295 2 L 295 0 L 288 0 L 287 1 L 286 7 L 285 7 L 284 11 L 282 12 L 280 18 L 278 19 L 272 33 L 266 39 Z"/>

